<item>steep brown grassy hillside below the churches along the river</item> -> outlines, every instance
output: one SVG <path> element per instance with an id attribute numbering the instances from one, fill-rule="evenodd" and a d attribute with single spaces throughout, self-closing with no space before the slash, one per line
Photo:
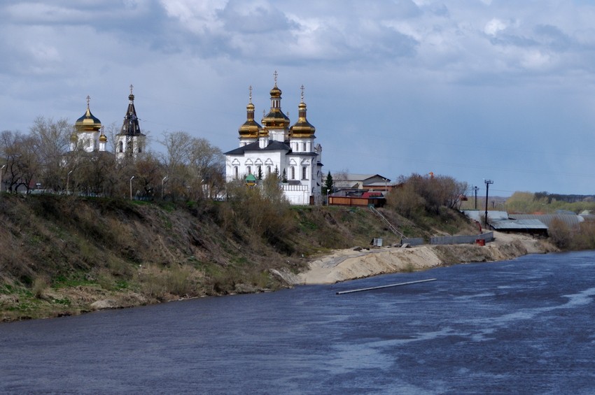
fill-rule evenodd
<path id="1" fill-rule="evenodd" d="M 2 194 L 0 319 L 273 290 L 330 250 L 400 240 L 365 208 L 254 206 Z M 384 214 L 407 236 L 476 231 Z"/>

